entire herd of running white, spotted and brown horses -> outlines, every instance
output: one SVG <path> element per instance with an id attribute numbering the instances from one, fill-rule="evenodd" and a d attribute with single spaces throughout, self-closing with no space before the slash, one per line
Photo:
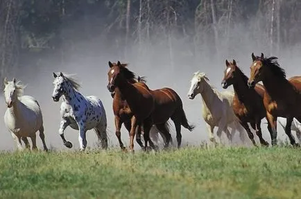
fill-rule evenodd
<path id="1" fill-rule="evenodd" d="M 146 85 L 144 77 L 136 76 L 127 64 L 108 62 L 109 71 L 107 89 L 113 102 L 114 123 L 119 146 L 126 150 L 121 141 L 121 126 L 124 124 L 130 135 L 129 150 L 134 151 L 134 137 L 141 148 L 147 149 L 148 144 L 154 150 L 157 145 L 150 139 L 150 131 L 160 132 L 164 139 L 164 148 L 168 148 L 171 139 L 169 119 L 173 121 L 176 131 L 178 148 L 181 146 L 181 126 L 192 131 L 194 126 L 189 124 L 185 115 L 180 96 L 171 88 L 164 87 L 152 90 Z M 86 132 L 94 129 L 101 148 L 107 148 L 107 116 L 103 103 L 96 96 L 80 94 L 80 85 L 69 74 L 53 73 L 53 101 L 60 106 L 60 128 L 58 130 L 63 144 L 71 148 L 70 141 L 65 139 L 64 131 L 67 126 L 78 130 L 80 150 L 87 146 Z M 262 81 L 263 85 L 259 82 Z M 31 138 L 33 150 L 36 146 L 36 132 L 44 150 L 45 143 L 42 112 L 39 103 L 32 96 L 24 96 L 24 86 L 19 81 L 4 79 L 4 97 L 8 109 L 4 115 L 6 128 L 10 131 L 17 144 L 17 149 L 23 150 L 22 141 L 30 148 L 28 137 Z M 216 135 L 221 142 L 221 132 L 232 141 L 234 133 L 240 132 L 244 141 L 244 130 L 254 146 L 257 146 L 254 135 L 248 123 L 255 130 L 262 146 L 268 146 L 261 132 L 261 119 L 268 121 L 271 144 L 277 145 L 277 117 L 284 127 L 286 135 L 293 146 L 296 143 L 291 130 L 301 141 L 301 76 L 286 79 L 284 69 L 279 67 L 277 58 L 265 58 L 264 54 L 255 56 L 252 53 L 250 78 L 237 66 L 236 61 L 225 61 L 224 77 L 221 82 L 223 89 L 233 86 L 234 92 L 225 90 L 218 92 L 209 84 L 205 73 L 194 73 L 191 79 L 188 96 L 192 100 L 197 94 L 203 99 L 203 119 L 209 131 L 209 140 L 216 143 L 214 127 L 218 127 Z M 285 121 L 286 120 L 286 121 Z M 293 124 L 293 125 L 292 125 Z M 231 132 L 228 130 L 231 128 Z M 244 129 L 244 130 L 243 130 Z M 155 130 L 155 131 L 154 131 Z M 144 144 L 141 141 L 143 132 Z"/>

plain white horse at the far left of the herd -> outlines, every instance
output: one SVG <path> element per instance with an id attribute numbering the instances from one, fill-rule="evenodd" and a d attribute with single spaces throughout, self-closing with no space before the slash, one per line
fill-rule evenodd
<path id="1" fill-rule="evenodd" d="M 4 96 L 8 109 L 4 114 L 4 123 L 6 128 L 15 139 L 18 150 L 23 150 L 21 139 L 24 141 L 26 148 L 30 149 L 27 137 L 31 138 L 33 150 L 37 149 L 35 132 L 39 130 L 44 150 L 48 150 L 45 143 L 43 117 L 39 103 L 32 96 L 23 96 L 24 85 L 16 82 L 13 78 L 8 81 L 4 78 Z"/>

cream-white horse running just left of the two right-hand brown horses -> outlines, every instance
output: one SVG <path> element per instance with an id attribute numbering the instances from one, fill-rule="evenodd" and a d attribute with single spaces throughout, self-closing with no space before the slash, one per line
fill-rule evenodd
<path id="1" fill-rule="evenodd" d="M 243 128 L 239 124 L 232 109 L 234 92 L 218 92 L 208 83 L 208 81 L 209 79 L 205 73 L 200 73 L 199 71 L 194 73 L 193 78 L 191 79 L 188 96 L 190 99 L 195 98 L 197 94 L 201 94 L 202 96 L 203 119 L 207 123 L 210 141 L 216 142 L 214 139 L 214 127 L 218 126 L 216 135 L 218 136 L 220 143 L 222 131 L 224 131 L 227 138 L 232 141 L 232 136 L 236 129 L 239 130 L 241 141 L 244 142 Z M 231 134 L 227 129 L 228 126 L 232 128 Z"/>

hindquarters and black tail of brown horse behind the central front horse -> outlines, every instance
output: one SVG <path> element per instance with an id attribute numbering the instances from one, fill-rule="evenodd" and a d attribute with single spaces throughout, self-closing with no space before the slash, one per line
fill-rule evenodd
<path id="1" fill-rule="evenodd" d="M 126 67 L 122 66 L 121 64 L 119 67 L 123 68 L 123 70 L 126 69 Z M 151 116 L 152 122 L 155 123 L 155 126 L 160 132 L 162 132 L 164 135 L 167 135 L 165 123 L 169 120 L 169 118 L 171 118 L 175 124 L 178 147 L 180 147 L 182 141 L 181 126 L 184 126 L 184 128 L 187 128 L 190 131 L 194 128 L 194 126 L 189 125 L 187 121 L 180 96 L 178 96 L 178 94 L 170 88 L 150 90 L 150 93 L 152 94 L 155 103 L 155 109 Z M 170 140 L 171 136 L 169 134 L 169 137 L 166 137 L 165 147 L 169 146 Z"/>

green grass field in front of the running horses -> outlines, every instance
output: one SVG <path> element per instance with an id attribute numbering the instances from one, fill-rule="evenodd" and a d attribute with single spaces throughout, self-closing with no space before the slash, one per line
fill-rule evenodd
<path id="1" fill-rule="evenodd" d="M 0 198 L 300 198 L 301 150 L 0 153 Z"/>

